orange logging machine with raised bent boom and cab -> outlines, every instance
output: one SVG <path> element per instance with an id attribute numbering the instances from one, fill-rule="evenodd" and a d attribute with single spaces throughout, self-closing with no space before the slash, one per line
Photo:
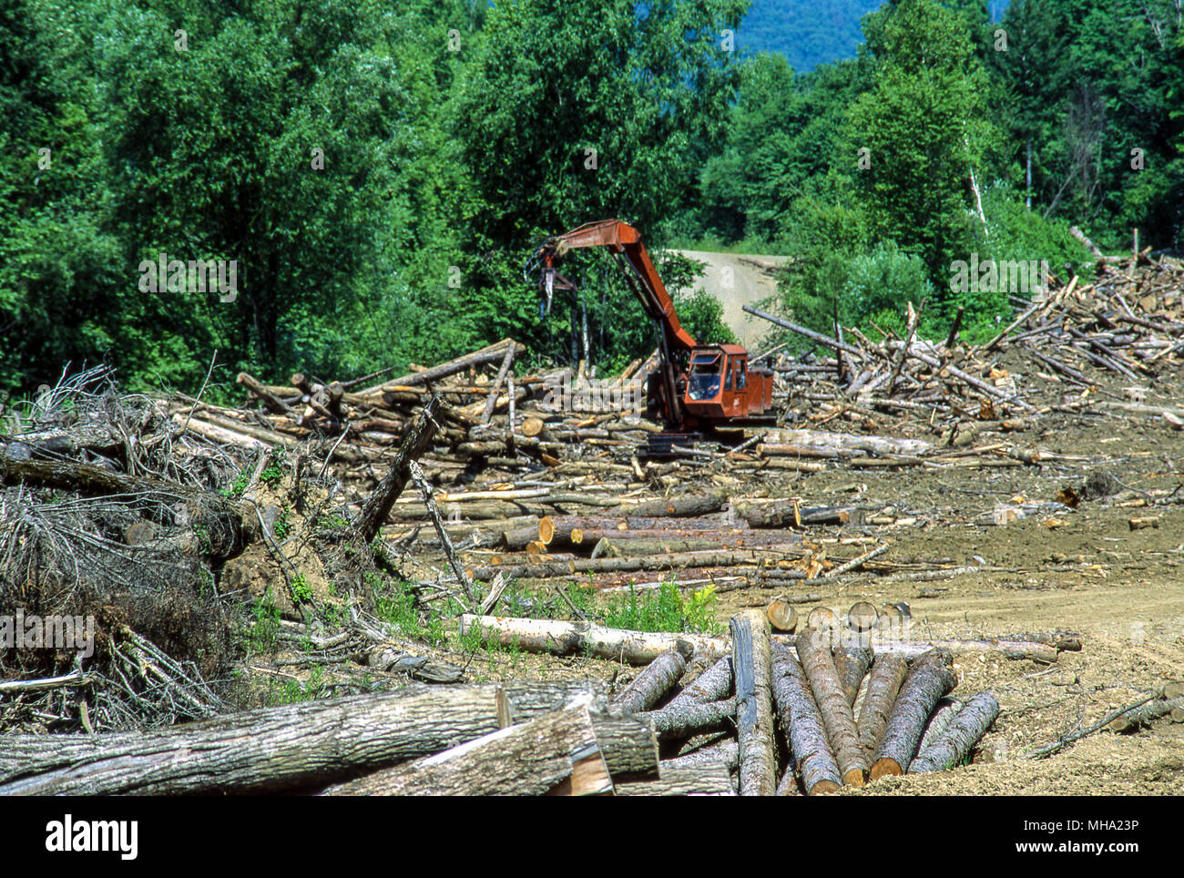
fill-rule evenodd
<path id="1" fill-rule="evenodd" d="M 538 267 L 545 296 L 542 312 L 551 308 L 555 290 L 575 286 L 556 270 L 558 262 L 579 247 L 606 247 L 625 273 L 642 306 L 658 324 L 658 368 L 646 388 L 650 415 L 673 431 L 651 441 L 651 452 L 664 444 L 683 444 L 720 427 L 771 422 L 773 373 L 751 368 L 748 351 L 739 344 L 700 344 L 683 328 L 674 299 L 667 292 L 642 244 L 641 233 L 620 220 L 587 222 L 571 232 L 548 238 L 530 259 L 523 275 Z"/>

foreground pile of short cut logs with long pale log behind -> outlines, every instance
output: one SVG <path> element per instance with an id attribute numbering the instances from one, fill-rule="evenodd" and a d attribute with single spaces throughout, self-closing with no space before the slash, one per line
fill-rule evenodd
<path id="1" fill-rule="evenodd" d="M 496 635 L 506 620 L 465 621 Z M 521 648 L 556 651 L 555 631 L 532 633 L 530 620 L 514 621 Z M 646 794 L 818 795 L 884 776 L 944 772 L 972 756 L 999 715 L 989 691 L 965 702 L 948 698 L 955 685 L 952 654 L 928 644 L 913 650 L 897 644 L 896 651 L 876 654 L 866 634 L 829 627 L 793 640 L 773 638 L 759 611 L 733 616 L 723 644 L 592 628 L 583 630 L 587 639 L 572 634 L 559 651 L 645 664 L 611 708 L 643 722 L 659 742 L 662 782 L 644 788 Z M 688 657 L 706 670 L 680 687 Z M 851 689 L 866 695 L 849 696 Z M 413 774 L 388 774 L 388 781 L 343 789 L 416 789 Z"/>

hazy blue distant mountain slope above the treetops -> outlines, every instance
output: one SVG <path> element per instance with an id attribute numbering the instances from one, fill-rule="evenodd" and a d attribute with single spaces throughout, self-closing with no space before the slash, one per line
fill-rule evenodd
<path id="1" fill-rule="evenodd" d="M 863 41 L 860 19 L 881 0 L 752 0 L 736 32 L 748 52 L 781 52 L 799 73 L 817 64 L 854 58 Z"/>

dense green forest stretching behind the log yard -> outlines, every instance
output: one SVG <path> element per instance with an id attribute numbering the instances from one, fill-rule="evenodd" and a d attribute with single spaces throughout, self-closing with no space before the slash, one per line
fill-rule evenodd
<path id="1" fill-rule="evenodd" d="M 773 305 L 807 325 L 899 331 L 912 302 L 932 334 L 961 309 L 969 340 L 1016 291 L 958 288 L 958 263 L 1087 278 L 1074 226 L 1179 251 L 1173 0 L 886 2 L 809 72 L 738 44 L 747 6 L 6 0 L 0 392 L 105 362 L 131 390 L 210 373 L 218 400 L 239 370 L 504 337 L 617 369 L 655 330 L 606 259 L 573 259 L 580 295 L 545 318 L 522 277 L 610 217 L 652 250 L 789 256 Z M 232 271 L 207 289 L 173 260 Z M 659 270 L 677 289 L 695 265 Z M 726 335 L 713 299 L 682 308 Z"/>

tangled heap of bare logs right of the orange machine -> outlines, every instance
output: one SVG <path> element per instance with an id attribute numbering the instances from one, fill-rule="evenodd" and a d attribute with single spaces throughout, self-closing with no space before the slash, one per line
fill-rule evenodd
<path id="1" fill-rule="evenodd" d="M 940 444 L 955 447 L 991 433 L 1027 431 L 1050 411 L 1062 411 L 1063 400 L 1042 405 L 1049 383 L 1066 393 L 1112 380 L 1145 386 L 1184 361 L 1180 260 L 1144 251 L 1125 260 L 1100 259 L 1093 283 L 1042 280 L 1044 291 L 1032 301 L 1012 297 L 1015 318 L 974 346 L 959 340 L 960 314 L 945 338 L 921 338 L 912 304 L 903 336 L 881 331 L 879 341 L 854 328 L 831 337 L 752 306 L 745 310 L 831 351 L 781 354 L 768 363 L 778 376 L 776 395 L 813 425 L 845 422 L 897 433 L 937 425 Z M 1010 349 L 1019 351 L 1021 374 L 1000 363 Z M 1103 393 L 1107 399 L 1089 402 L 1184 427 L 1184 413 L 1172 401 L 1148 405 L 1145 389 L 1132 388 L 1128 399 Z"/>

